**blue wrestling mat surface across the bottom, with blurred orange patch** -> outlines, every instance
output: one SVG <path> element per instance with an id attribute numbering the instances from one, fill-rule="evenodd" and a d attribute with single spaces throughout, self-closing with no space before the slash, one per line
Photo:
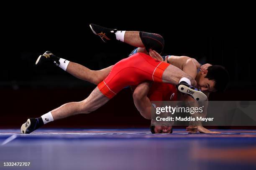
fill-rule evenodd
<path id="1" fill-rule="evenodd" d="M 0 169 L 256 169 L 256 130 L 151 134 L 148 129 L 0 130 Z M 30 162 L 6 167 L 4 162 Z"/>

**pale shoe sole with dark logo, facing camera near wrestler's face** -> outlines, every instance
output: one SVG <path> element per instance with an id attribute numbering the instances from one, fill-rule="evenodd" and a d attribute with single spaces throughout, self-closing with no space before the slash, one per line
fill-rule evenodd
<path id="1" fill-rule="evenodd" d="M 191 95 L 195 100 L 197 101 L 205 101 L 207 100 L 207 96 L 200 91 L 193 90 L 185 85 L 179 85 L 178 90 L 180 92 L 186 93 L 188 95 Z"/>

